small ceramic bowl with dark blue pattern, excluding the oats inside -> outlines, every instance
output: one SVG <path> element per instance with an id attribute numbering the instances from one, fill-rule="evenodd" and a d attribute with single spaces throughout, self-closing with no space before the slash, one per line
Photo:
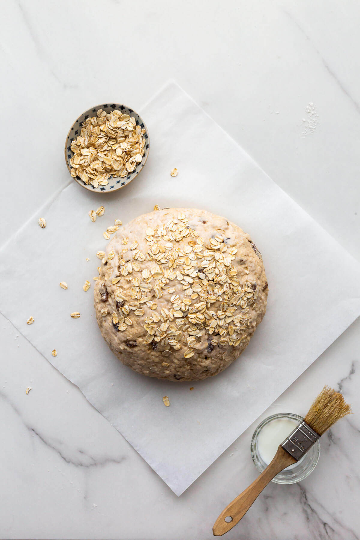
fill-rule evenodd
<path id="1" fill-rule="evenodd" d="M 112 191 L 120 190 L 121 187 L 126 186 L 126 184 L 129 184 L 135 177 L 138 176 L 139 172 L 142 171 L 142 168 L 144 167 L 147 157 L 149 155 L 149 148 L 150 148 L 150 142 L 149 142 L 149 134 L 147 131 L 147 127 L 144 123 L 144 120 L 139 116 L 137 112 L 135 112 L 133 109 L 130 109 L 126 105 L 120 105 L 119 103 L 104 103 L 102 105 L 97 105 L 95 107 L 92 107 L 91 109 L 87 109 L 87 111 L 83 112 L 75 120 L 73 125 L 71 126 L 69 133 L 67 133 L 66 142 L 65 142 L 65 161 L 66 166 L 69 169 L 69 172 L 71 172 L 71 165 L 70 165 L 70 159 L 73 157 L 74 153 L 71 151 L 71 143 L 74 139 L 80 135 L 81 127 L 83 122 L 85 122 L 86 118 L 89 118 L 89 116 L 96 116 L 96 113 L 99 109 L 103 109 L 104 111 L 111 112 L 114 109 L 119 110 L 123 112 L 124 114 L 129 114 L 131 117 L 135 118 L 136 124 L 141 127 L 141 129 L 145 129 L 145 133 L 142 137 L 145 138 L 146 143 L 144 146 L 144 156 L 142 156 L 142 160 L 140 163 L 134 168 L 133 172 L 130 172 L 127 174 L 126 177 L 120 178 L 120 177 L 113 177 L 110 176 L 108 178 L 108 184 L 106 186 L 98 186 L 93 187 L 91 184 L 85 184 L 83 180 L 79 177 L 74 177 L 74 180 L 80 184 L 80 186 L 85 187 L 86 190 L 89 191 L 95 191 L 98 193 L 111 193 Z"/>

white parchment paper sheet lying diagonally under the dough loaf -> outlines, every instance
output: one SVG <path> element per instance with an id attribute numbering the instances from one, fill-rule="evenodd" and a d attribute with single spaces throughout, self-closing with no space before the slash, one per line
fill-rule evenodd
<path id="1" fill-rule="evenodd" d="M 0 308 L 180 495 L 357 318 L 360 266 L 175 83 L 141 114 L 150 156 L 140 176 L 110 195 L 71 182 L 40 209 L 0 252 Z M 264 320 L 240 359 L 206 381 L 138 375 L 98 330 L 92 278 L 96 251 L 106 245 L 102 233 L 154 204 L 223 215 L 252 235 L 263 256 Z M 93 223 L 88 212 L 100 205 L 105 214 Z M 70 318 L 73 311 L 79 319 Z"/>

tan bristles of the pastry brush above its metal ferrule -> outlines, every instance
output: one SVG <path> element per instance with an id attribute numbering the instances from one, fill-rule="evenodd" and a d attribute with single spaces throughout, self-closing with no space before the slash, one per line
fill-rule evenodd
<path id="1" fill-rule="evenodd" d="M 351 407 L 345 402 L 343 396 L 332 388 L 324 386 L 304 420 L 318 435 L 322 435 L 337 420 L 350 413 Z"/>

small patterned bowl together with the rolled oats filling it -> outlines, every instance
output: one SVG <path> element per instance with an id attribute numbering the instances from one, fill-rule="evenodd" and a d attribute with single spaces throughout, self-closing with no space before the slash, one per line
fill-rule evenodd
<path id="1" fill-rule="evenodd" d="M 133 109 L 115 103 L 81 114 L 65 144 L 71 176 L 86 189 L 100 193 L 116 191 L 133 180 L 144 167 L 148 152 L 143 120 Z"/>

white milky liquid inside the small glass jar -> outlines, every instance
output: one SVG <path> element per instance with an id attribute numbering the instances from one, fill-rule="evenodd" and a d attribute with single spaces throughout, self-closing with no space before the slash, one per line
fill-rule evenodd
<path id="1" fill-rule="evenodd" d="M 257 437 L 257 451 L 262 457 L 263 461 L 268 465 L 274 458 L 279 444 L 284 442 L 286 437 L 290 435 L 298 422 L 290 420 L 288 418 L 281 418 L 271 420 L 267 423 L 260 431 Z M 301 460 L 299 460 L 301 461 Z M 297 463 L 289 465 L 284 470 L 291 469 L 295 467 Z"/>

